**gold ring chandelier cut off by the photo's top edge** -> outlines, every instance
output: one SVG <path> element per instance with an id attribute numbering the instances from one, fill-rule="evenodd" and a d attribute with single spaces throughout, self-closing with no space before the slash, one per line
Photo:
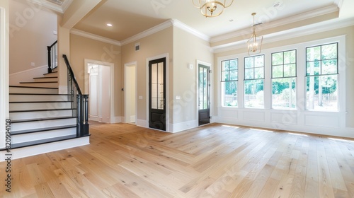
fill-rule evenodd
<path id="1" fill-rule="evenodd" d="M 227 1 L 229 4 L 227 4 Z M 231 6 L 234 0 L 220 0 L 220 1 L 212 1 L 212 0 L 192 0 L 194 6 L 196 8 L 200 8 L 200 12 L 205 17 L 215 17 L 219 16 L 223 11 L 224 8 L 228 8 Z"/>

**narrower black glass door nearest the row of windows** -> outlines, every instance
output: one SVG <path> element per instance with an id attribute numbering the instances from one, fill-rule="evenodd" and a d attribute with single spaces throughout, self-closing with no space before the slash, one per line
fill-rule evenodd
<path id="1" fill-rule="evenodd" d="M 199 92 L 199 125 L 210 123 L 210 69 L 208 66 L 198 66 Z"/>

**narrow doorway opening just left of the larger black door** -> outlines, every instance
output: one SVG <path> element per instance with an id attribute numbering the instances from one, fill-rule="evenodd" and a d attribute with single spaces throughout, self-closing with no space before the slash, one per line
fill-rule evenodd
<path id="1" fill-rule="evenodd" d="M 125 123 L 136 124 L 137 119 L 137 63 L 125 64 Z"/>

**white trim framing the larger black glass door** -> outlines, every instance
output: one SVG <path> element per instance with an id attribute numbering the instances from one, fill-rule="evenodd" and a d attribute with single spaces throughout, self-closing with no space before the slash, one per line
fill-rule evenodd
<path id="1" fill-rule="evenodd" d="M 147 112 L 147 124 L 145 127 L 150 128 L 149 127 L 149 102 L 150 102 L 150 98 L 149 98 L 149 62 L 156 60 L 156 59 L 162 59 L 162 58 L 166 58 L 166 131 L 164 132 L 171 132 L 170 128 L 169 128 L 169 53 L 165 53 L 165 54 L 159 54 L 156 55 L 154 57 L 148 57 L 147 58 L 147 63 L 146 63 L 146 95 L 145 98 L 147 98 L 147 108 L 146 108 L 146 112 Z M 158 129 L 156 129 L 158 130 Z"/>

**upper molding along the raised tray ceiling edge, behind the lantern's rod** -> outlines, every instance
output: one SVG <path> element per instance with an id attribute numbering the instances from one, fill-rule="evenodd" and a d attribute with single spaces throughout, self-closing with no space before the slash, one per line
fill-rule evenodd
<path id="1" fill-rule="evenodd" d="M 295 22 L 298 22 L 298 21 L 304 21 L 304 20 L 307 20 L 309 18 L 314 18 L 315 16 L 321 16 L 321 15 L 324 15 L 324 14 L 327 14 L 327 13 L 333 13 L 333 12 L 336 12 L 338 10 L 339 10 L 339 8 L 336 5 L 326 6 L 326 7 L 319 8 L 319 9 L 316 9 L 316 10 L 313 10 L 313 11 L 307 11 L 307 12 L 304 12 L 304 13 L 300 13 L 300 14 L 297 14 L 295 16 L 289 16 L 287 18 L 282 18 L 282 19 L 279 19 L 279 20 L 276 20 L 276 21 L 270 21 L 268 23 L 263 23 L 262 25 L 259 25 L 259 27 L 262 30 L 267 30 L 267 29 L 270 29 L 270 28 L 279 27 L 281 25 L 287 25 L 289 23 L 295 23 Z M 224 35 L 217 35 L 215 37 L 212 37 L 210 39 L 210 42 L 211 43 L 212 42 L 220 42 L 222 40 L 228 40 L 228 39 L 231 39 L 233 37 L 243 36 L 243 35 L 245 35 L 245 33 L 251 33 L 251 32 L 252 32 L 251 28 L 244 28 L 242 30 L 237 30 L 237 31 L 234 31 L 232 33 L 226 33 Z"/>

